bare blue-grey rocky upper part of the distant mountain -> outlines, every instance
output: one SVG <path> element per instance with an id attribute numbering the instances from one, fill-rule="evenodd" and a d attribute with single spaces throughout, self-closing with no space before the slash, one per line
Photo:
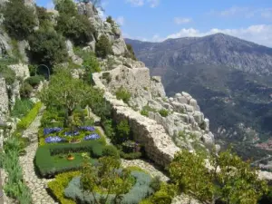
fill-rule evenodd
<path id="1" fill-rule="evenodd" d="M 248 73 L 272 73 L 272 48 L 228 34 L 168 39 L 161 43 L 125 39 L 138 58 L 151 67 L 171 67 L 194 63 L 227 65 Z"/>

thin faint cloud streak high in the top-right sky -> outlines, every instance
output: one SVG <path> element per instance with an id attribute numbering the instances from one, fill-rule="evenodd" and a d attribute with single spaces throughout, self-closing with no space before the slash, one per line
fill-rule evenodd
<path id="1" fill-rule="evenodd" d="M 212 10 L 209 12 L 209 15 L 219 15 L 222 17 L 262 17 L 262 18 L 270 18 L 272 17 L 272 7 L 267 8 L 249 8 L 249 7 L 238 7 L 232 6 L 226 10 L 215 11 Z"/>

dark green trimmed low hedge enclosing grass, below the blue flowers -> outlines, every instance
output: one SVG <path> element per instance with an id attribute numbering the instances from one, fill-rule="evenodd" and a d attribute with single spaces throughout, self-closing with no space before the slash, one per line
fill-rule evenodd
<path id="1" fill-rule="evenodd" d="M 36 151 L 34 164 L 42 177 L 53 177 L 58 173 L 79 170 L 83 163 L 81 153 L 88 152 L 92 158 L 102 157 L 103 141 L 83 141 L 78 144 L 47 144 Z M 62 159 L 60 155 L 73 152 L 74 160 Z M 91 160 L 94 162 L 95 160 Z"/>

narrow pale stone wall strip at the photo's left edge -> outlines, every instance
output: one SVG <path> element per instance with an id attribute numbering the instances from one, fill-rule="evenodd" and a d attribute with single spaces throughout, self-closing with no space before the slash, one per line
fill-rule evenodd
<path id="1" fill-rule="evenodd" d="M 0 77 L 0 121 L 5 121 L 8 113 L 8 95 L 5 86 L 5 79 Z"/>

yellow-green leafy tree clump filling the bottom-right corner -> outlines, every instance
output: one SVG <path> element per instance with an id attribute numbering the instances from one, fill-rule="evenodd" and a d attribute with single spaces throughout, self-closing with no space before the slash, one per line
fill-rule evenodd
<path id="1" fill-rule="evenodd" d="M 256 204 L 267 191 L 267 183 L 257 178 L 248 162 L 228 151 L 209 155 L 211 168 L 202 154 L 180 151 L 170 164 L 170 177 L 202 203 Z"/>

